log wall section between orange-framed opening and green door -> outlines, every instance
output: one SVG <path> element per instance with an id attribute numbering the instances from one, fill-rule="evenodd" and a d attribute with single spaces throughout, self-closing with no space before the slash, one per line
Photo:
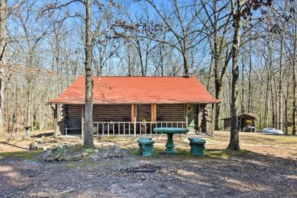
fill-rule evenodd
<path id="1" fill-rule="evenodd" d="M 185 121 L 184 104 L 157 105 L 157 121 Z"/>

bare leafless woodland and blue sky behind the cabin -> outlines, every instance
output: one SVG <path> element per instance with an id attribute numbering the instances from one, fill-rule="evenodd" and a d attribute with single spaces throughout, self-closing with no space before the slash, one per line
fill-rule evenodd
<path id="1" fill-rule="evenodd" d="M 291 0 L 0 0 L 0 128 L 52 128 L 45 103 L 80 75 L 197 76 L 222 101 L 213 108 L 216 129 L 224 117 L 252 112 L 260 129 L 295 134 L 296 7 Z"/>

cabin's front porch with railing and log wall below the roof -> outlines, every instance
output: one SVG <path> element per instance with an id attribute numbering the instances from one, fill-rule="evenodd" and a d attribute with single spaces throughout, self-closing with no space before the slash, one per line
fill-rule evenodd
<path id="1" fill-rule="evenodd" d="M 208 112 L 206 104 L 94 105 L 93 134 L 153 135 L 155 127 L 189 127 L 194 132 L 212 134 Z M 62 105 L 61 134 L 83 136 L 84 125 L 83 105 Z"/>

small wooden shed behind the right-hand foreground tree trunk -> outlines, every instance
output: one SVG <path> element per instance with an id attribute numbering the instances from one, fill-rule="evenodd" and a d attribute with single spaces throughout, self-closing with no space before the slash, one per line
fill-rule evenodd
<path id="1" fill-rule="evenodd" d="M 231 129 L 231 117 L 223 118 L 224 131 Z M 248 113 L 241 113 L 238 115 L 238 130 L 240 132 L 256 132 L 257 115 Z"/>

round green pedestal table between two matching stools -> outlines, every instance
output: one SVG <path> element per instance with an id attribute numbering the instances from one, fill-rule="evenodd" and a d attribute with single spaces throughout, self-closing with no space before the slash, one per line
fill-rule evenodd
<path id="1" fill-rule="evenodd" d="M 187 132 L 189 132 L 189 129 L 185 129 L 185 128 L 174 128 L 174 127 L 161 127 L 161 128 L 155 128 L 153 129 L 153 132 L 156 133 L 163 133 L 163 134 L 167 134 L 167 142 L 166 142 L 166 149 L 165 149 L 165 153 L 168 154 L 175 154 L 177 153 L 175 150 L 175 145 L 173 143 L 173 134 L 186 134 Z"/>

